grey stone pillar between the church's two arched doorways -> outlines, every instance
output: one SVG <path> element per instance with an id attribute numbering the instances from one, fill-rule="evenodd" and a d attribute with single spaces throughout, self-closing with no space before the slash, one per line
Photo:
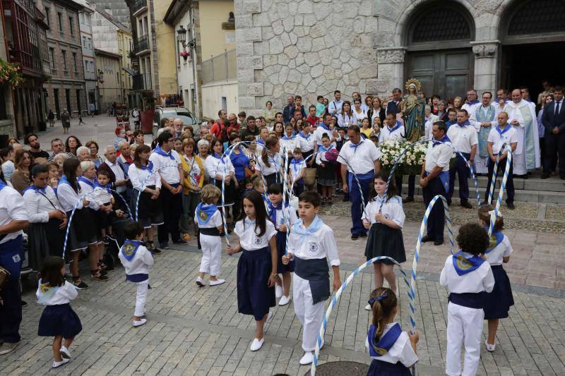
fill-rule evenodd
<path id="1" fill-rule="evenodd" d="M 496 67 L 499 65 L 499 40 L 479 40 L 471 42 L 475 54 L 475 90 L 479 96 L 484 91 L 496 95 Z"/>

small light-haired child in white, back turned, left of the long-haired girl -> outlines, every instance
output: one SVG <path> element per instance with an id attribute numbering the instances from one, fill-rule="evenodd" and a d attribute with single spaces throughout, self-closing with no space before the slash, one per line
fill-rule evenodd
<path id="1" fill-rule="evenodd" d="M 196 284 L 206 286 L 204 274 L 210 275 L 210 286 L 223 284 L 225 279 L 218 279 L 222 265 L 222 239 L 220 234 L 224 231 L 222 214 L 216 204 L 220 200 L 220 189 L 208 184 L 202 189 L 201 200 L 196 207 L 194 222 L 198 223 L 198 248 L 202 249 L 200 271 L 196 277 Z"/>

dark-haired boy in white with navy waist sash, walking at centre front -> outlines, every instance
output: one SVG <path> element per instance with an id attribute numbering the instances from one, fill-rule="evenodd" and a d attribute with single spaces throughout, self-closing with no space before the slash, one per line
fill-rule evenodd
<path id="1" fill-rule="evenodd" d="M 323 302 L 331 296 L 328 262 L 333 269 L 333 290 L 341 286 L 340 259 L 333 231 L 318 216 L 320 195 L 307 191 L 298 198 L 299 219 L 292 226 L 287 255 L 283 264 L 295 262 L 292 295 L 295 313 L 302 323 L 302 348 L 300 364 L 314 360 L 316 339 L 323 321 Z M 323 339 L 320 348 L 323 346 Z"/>

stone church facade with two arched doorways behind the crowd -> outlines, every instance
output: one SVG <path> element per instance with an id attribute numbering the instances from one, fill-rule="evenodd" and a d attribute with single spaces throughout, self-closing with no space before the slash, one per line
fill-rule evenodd
<path id="1" fill-rule="evenodd" d="M 235 0 L 239 109 L 290 94 L 428 97 L 562 83 L 563 0 Z M 254 111 L 256 110 L 256 111 Z"/>

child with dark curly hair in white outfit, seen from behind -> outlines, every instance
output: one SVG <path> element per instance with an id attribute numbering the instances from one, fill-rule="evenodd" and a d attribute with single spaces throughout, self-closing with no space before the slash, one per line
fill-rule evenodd
<path id="1" fill-rule="evenodd" d="M 460 227 L 456 241 L 460 250 L 447 257 L 439 276 L 439 284 L 449 292 L 446 375 L 475 375 L 480 360 L 483 294 L 494 287 L 492 270 L 484 261 L 489 236 L 480 224 L 468 223 Z M 465 346 L 463 373 L 461 346 Z"/>

